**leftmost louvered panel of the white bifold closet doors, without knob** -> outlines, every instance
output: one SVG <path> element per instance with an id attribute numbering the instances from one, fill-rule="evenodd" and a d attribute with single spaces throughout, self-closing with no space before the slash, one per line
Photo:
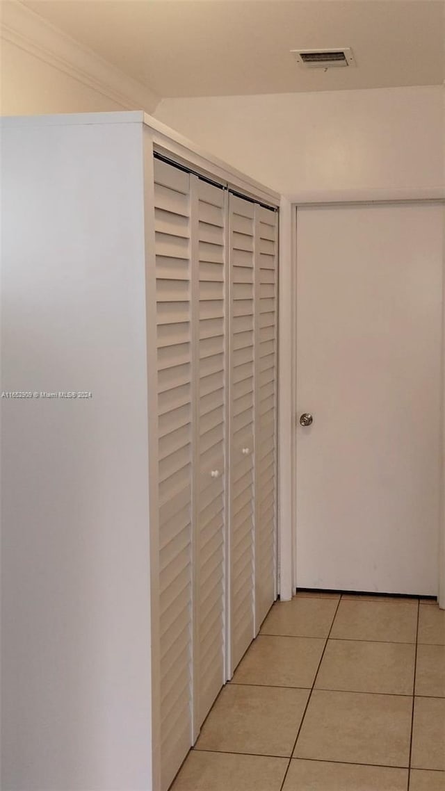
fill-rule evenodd
<path id="1" fill-rule="evenodd" d="M 162 791 L 192 736 L 190 176 L 154 161 Z M 147 746 L 148 748 L 148 746 Z"/>

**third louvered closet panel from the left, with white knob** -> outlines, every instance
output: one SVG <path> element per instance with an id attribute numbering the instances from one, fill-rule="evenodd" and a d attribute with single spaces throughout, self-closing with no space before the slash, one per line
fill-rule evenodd
<path id="1" fill-rule="evenodd" d="M 255 206 L 229 196 L 230 222 L 230 672 L 254 637 Z"/>

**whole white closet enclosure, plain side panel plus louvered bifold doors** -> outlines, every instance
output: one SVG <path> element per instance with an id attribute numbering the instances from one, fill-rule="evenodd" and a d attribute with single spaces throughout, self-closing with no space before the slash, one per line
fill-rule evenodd
<path id="1" fill-rule="evenodd" d="M 2 138 L 2 783 L 167 791 L 276 596 L 278 196 L 142 113 Z"/>

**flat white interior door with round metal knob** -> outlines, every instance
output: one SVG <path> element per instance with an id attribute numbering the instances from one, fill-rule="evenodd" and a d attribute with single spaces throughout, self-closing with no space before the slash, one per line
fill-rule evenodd
<path id="1" fill-rule="evenodd" d="M 437 593 L 442 267 L 442 206 L 297 212 L 299 587 Z"/>

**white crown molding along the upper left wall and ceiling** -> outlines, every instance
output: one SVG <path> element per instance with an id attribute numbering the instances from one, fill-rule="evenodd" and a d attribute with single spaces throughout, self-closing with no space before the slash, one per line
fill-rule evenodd
<path id="1" fill-rule="evenodd" d="M 126 110 L 152 113 L 160 97 L 100 55 L 67 36 L 19 0 L 3 0 L 2 38 L 68 74 Z"/>

